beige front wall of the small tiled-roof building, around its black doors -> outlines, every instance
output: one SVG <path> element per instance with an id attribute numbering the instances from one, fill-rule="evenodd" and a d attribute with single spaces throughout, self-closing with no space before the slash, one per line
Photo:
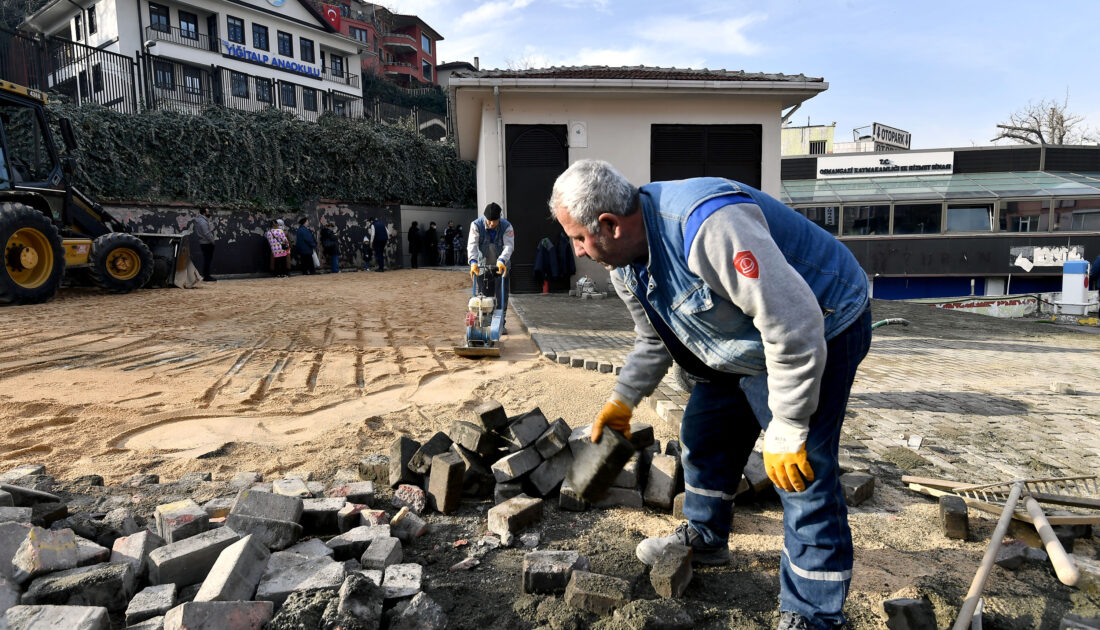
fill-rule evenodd
<path id="1" fill-rule="evenodd" d="M 477 146 L 477 207 L 490 201 L 505 206 L 506 194 L 499 168 L 496 102 L 492 92 L 482 101 Z M 502 90 L 504 124 L 587 123 L 586 148 L 570 147 L 569 161 L 606 159 L 635 185 L 650 181 L 651 124 L 761 124 L 761 187 L 773 196 L 780 191 L 780 101 L 778 98 L 684 92 L 640 91 L 597 93 Z M 505 207 L 507 213 L 507 208 Z M 607 270 L 595 263 L 578 261 L 578 275 L 588 275 L 604 287 Z"/>

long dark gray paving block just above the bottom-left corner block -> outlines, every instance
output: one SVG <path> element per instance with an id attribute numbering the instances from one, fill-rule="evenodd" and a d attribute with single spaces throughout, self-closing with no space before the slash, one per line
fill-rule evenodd
<path id="1" fill-rule="evenodd" d="M 124 562 L 58 571 L 35 578 L 26 587 L 26 605 L 102 606 L 125 610 L 134 594 L 133 568 Z"/>

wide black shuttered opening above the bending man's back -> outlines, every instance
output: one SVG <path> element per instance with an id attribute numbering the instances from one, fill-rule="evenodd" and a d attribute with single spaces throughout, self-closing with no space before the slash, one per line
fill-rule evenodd
<path id="1" fill-rule="evenodd" d="M 760 188 L 759 124 L 654 124 L 649 178 L 727 177 Z"/>

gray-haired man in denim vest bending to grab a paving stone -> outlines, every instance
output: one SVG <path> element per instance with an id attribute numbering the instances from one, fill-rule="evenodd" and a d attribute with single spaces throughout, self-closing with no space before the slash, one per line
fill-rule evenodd
<path id="1" fill-rule="evenodd" d="M 727 179 L 640 189 L 606 162 L 574 163 L 550 199 L 578 256 L 612 270 L 635 322 L 634 351 L 592 429 L 629 435 L 630 415 L 673 361 L 698 378 L 680 427 L 684 517 L 644 540 L 694 562 L 729 562 L 733 499 L 763 429 L 763 462 L 783 502 L 780 629 L 834 628 L 853 545 L 837 449 L 848 394 L 870 343 L 867 275 L 827 232 Z"/>

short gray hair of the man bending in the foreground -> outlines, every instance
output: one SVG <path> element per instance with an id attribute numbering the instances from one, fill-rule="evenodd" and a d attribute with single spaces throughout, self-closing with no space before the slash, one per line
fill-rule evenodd
<path id="1" fill-rule="evenodd" d="M 610 164 L 601 159 L 574 162 L 553 183 L 550 215 L 565 208 L 574 221 L 593 234 L 600 232 L 604 212 L 627 217 L 638 208 L 638 189 Z"/>

